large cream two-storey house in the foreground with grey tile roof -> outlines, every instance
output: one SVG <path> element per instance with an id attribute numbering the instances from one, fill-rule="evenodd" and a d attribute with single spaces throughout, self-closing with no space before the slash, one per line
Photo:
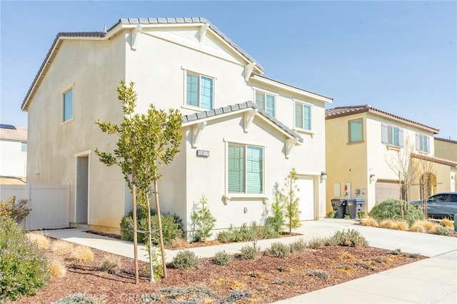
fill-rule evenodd
<path id="1" fill-rule="evenodd" d="M 58 34 L 22 104 L 31 126 L 28 182 L 69 183 L 72 225 L 116 232 L 131 210 L 121 170 L 94 154 L 116 147 L 94 121 L 121 122 L 121 79 L 136 83 L 139 112 L 154 103 L 183 113 L 181 152 L 162 167 L 159 191 L 161 211 L 179 215 L 186 229 L 202 195 L 216 228 L 262 222 L 292 168 L 301 219 L 325 216 L 331 98 L 266 78 L 206 19 L 121 19 L 106 32 Z"/>

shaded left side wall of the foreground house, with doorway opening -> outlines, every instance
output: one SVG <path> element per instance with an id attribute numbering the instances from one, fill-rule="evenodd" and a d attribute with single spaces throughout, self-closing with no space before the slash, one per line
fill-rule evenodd
<path id="1" fill-rule="evenodd" d="M 89 162 L 89 218 L 92 225 L 119 226 L 125 189 L 115 168 L 106 168 L 94 149 L 114 148 L 113 138 L 94 124 L 119 122 L 122 112 L 116 86 L 124 78 L 124 39 L 66 40 L 49 66 L 29 105 L 28 182 L 69 184 L 70 221 L 75 221 L 76 153 L 91 151 Z M 73 88 L 74 119 L 62 123 L 64 91 Z M 38 174 L 37 174 L 38 173 Z"/>

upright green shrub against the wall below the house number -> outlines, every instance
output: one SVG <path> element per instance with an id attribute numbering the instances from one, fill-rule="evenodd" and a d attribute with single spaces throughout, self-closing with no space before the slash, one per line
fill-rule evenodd
<path id="1" fill-rule="evenodd" d="M 206 238 L 209 238 L 212 234 L 211 230 L 214 228 L 214 223 L 216 223 L 216 218 L 212 216 L 206 205 L 208 205 L 208 198 L 201 196 L 191 215 L 195 227 L 194 240 L 196 242 L 205 241 Z"/>

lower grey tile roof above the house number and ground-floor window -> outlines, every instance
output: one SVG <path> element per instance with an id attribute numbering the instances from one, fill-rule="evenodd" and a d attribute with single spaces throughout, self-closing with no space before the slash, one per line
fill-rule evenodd
<path id="1" fill-rule="evenodd" d="M 284 123 L 281 123 L 281 121 L 278 121 L 278 119 L 274 118 L 270 114 L 266 113 L 266 111 L 261 110 L 258 108 L 256 103 L 253 103 L 252 101 L 246 101 L 243 103 L 236 103 L 231 106 L 224 106 L 222 108 L 215 108 L 214 110 L 209 110 L 209 111 L 204 111 L 204 112 L 198 112 L 198 113 L 192 113 L 188 115 L 183 116 L 183 123 L 189 123 L 191 121 L 199 121 L 200 119 L 204 118 L 210 118 L 214 116 L 219 116 L 221 114 L 225 113 L 232 113 L 236 111 L 243 110 L 245 108 L 255 108 L 261 115 L 265 116 L 269 121 L 271 121 L 273 124 L 275 124 L 278 128 L 281 128 L 283 131 L 288 133 L 290 136 L 298 138 L 298 141 L 303 143 L 303 138 L 296 133 L 295 131 L 291 130 L 291 128 L 288 128 Z"/>

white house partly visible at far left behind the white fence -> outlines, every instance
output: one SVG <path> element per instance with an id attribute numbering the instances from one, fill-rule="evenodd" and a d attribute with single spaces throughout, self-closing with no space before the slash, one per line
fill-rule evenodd
<path id="1" fill-rule="evenodd" d="M 24 184 L 27 127 L 0 124 L 0 183 Z"/>

